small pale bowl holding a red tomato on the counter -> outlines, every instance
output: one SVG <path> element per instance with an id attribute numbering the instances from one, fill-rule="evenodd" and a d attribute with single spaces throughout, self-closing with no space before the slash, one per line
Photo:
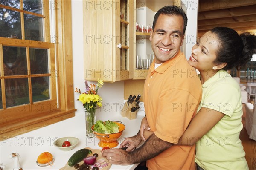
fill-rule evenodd
<path id="1" fill-rule="evenodd" d="M 70 146 L 69 147 L 62 147 L 62 144 L 64 141 L 69 141 Z M 79 139 L 75 137 L 63 137 L 59 138 L 56 141 L 53 142 L 53 146 L 58 147 L 59 149 L 63 151 L 69 151 L 72 150 L 76 145 L 79 143 Z"/>

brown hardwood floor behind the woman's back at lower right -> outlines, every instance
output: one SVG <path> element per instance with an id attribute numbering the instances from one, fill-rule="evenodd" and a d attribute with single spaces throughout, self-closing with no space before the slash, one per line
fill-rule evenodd
<path id="1" fill-rule="evenodd" d="M 247 131 L 245 129 L 246 113 L 245 113 L 244 106 L 243 106 L 243 112 L 244 112 L 244 115 L 243 115 L 242 122 L 243 122 L 244 128 L 240 133 L 240 139 L 244 146 L 245 158 L 249 166 L 249 170 L 256 170 L 256 141 L 249 138 Z"/>

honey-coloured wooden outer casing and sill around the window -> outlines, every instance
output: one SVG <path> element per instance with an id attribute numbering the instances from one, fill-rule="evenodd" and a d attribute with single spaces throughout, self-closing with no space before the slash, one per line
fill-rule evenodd
<path id="1" fill-rule="evenodd" d="M 58 75 L 58 99 L 60 109 L 50 109 L 49 111 L 49 109 L 47 110 L 47 106 L 45 106 L 43 107 L 45 110 L 42 112 L 37 112 L 33 116 L 23 116 L 19 121 L 3 120 L 0 110 L 0 141 L 75 116 L 72 36 L 70 36 L 72 35 L 71 0 L 55 0 L 54 3 L 56 35 L 58 35 L 58 42 L 55 43 L 55 51 L 58 61 L 56 70 Z M 49 33 L 47 32 L 45 35 L 49 35 Z M 0 37 L 0 43 L 4 40 L 5 38 Z M 2 71 L 1 69 L 1 72 Z M 54 104 L 56 104 L 54 100 L 52 100 L 52 102 L 50 107 L 54 107 Z M 49 101 L 47 101 L 47 103 L 49 103 Z M 36 104 L 44 106 L 44 102 L 36 102 L 34 104 L 35 107 Z M 19 108 L 20 111 L 22 111 L 22 107 L 26 107 L 26 105 L 22 105 Z M 13 112 L 12 109 L 15 108 L 10 109 L 10 114 Z M 20 113 L 24 114 L 23 112 Z"/>

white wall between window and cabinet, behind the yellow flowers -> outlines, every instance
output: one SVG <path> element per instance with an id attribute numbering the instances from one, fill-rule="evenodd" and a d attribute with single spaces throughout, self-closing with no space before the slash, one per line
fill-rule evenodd
<path id="1" fill-rule="evenodd" d="M 72 41 L 73 41 L 73 79 L 74 79 L 74 91 L 75 88 L 85 91 L 84 85 L 84 47 L 83 47 L 83 1 L 72 0 Z M 91 82 L 95 83 L 96 82 Z M 89 82 L 90 84 L 90 82 Z M 99 89 L 98 93 L 103 98 L 103 108 L 109 107 L 109 104 L 113 104 L 118 101 L 124 100 L 124 82 L 116 83 L 104 83 L 103 87 Z M 84 114 L 84 110 L 80 101 L 76 101 L 79 97 L 79 93 L 75 93 L 75 108 L 77 109 L 76 115 Z"/>

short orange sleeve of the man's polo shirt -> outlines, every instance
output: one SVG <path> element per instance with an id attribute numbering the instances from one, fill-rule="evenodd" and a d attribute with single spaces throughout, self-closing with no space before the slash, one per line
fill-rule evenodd
<path id="1" fill-rule="evenodd" d="M 198 99 L 181 89 L 171 89 L 159 96 L 155 135 L 177 144 L 198 107 Z"/>

